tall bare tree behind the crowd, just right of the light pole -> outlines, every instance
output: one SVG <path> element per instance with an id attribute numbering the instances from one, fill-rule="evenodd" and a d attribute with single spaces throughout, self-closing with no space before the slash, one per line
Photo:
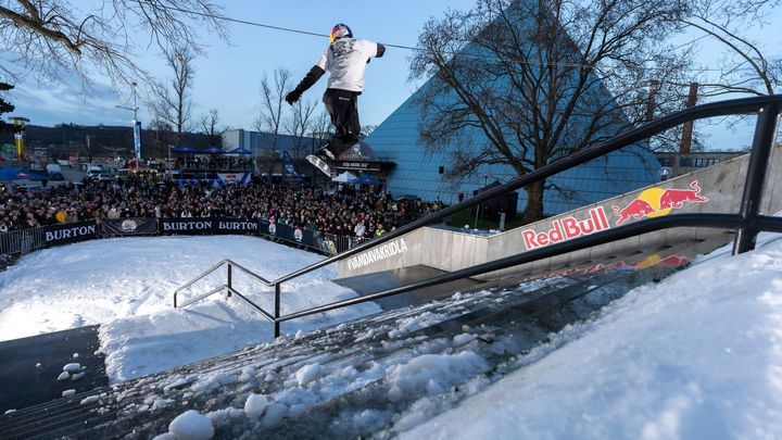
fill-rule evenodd
<path id="1" fill-rule="evenodd" d="M 179 146 L 182 133 L 190 130 L 191 104 L 190 98 L 193 77 L 192 61 L 194 54 L 188 49 L 174 49 L 166 52 L 166 63 L 172 68 L 174 77 L 168 84 L 157 84 L 153 111 L 155 117 L 171 124 L 176 130 L 175 143 Z"/>

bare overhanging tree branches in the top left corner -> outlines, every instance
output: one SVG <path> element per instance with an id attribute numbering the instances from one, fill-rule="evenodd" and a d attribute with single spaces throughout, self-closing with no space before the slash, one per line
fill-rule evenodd
<path id="1" fill-rule="evenodd" d="M 78 5 L 67 0 L 7 0 L 0 3 L 0 52 L 11 77 L 64 79 L 63 72 L 88 84 L 94 74 L 115 86 L 151 77 L 139 67 L 137 47 L 151 43 L 198 48 L 197 29 L 227 40 L 220 8 L 211 0 L 108 0 Z M 137 35 L 149 36 L 139 41 Z"/>

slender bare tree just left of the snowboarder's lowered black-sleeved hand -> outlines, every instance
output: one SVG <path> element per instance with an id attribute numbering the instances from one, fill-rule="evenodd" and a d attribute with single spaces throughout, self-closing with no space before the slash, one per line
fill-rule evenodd
<path id="1" fill-rule="evenodd" d="M 255 128 L 257 128 L 258 131 L 265 131 L 272 135 L 272 140 L 266 146 L 269 175 L 278 159 L 277 144 L 282 130 L 283 118 L 282 103 L 285 102 L 286 91 L 290 89 L 290 71 L 277 68 L 274 72 L 274 79 L 269 79 L 266 74 L 264 74 L 263 79 L 261 79 L 261 114 L 255 121 Z"/>

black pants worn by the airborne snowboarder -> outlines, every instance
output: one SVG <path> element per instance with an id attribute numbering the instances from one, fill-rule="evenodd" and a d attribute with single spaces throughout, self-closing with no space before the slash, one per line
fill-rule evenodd
<path id="1" fill-rule="evenodd" d="M 340 89 L 326 89 L 324 93 L 324 104 L 335 126 L 328 149 L 337 158 L 358 141 L 358 95 L 361 92 Z"/>

